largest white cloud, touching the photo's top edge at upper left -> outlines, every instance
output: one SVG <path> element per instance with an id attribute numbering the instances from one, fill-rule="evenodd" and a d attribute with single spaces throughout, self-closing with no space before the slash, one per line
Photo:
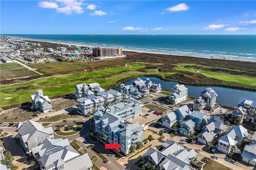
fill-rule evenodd
<path id="1" fill-rule="evenodd" d="M 56 12 L 64 14 L 82 14 L 84 10 L 82 8 L 82 2 L 78 0 L 56 0 L 55 2 L 42 1 L 38 2 L 38 6 L 42 8 L 56 9 Z"/>

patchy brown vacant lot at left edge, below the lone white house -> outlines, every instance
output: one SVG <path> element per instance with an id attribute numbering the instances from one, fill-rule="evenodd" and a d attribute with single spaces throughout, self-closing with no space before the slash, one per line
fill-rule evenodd
<path id="1" fill-rule="evenodd" d="M 7 122 L 16 122 L 15 118 L 19 117 L 17 121 L 26 121 L 28 118 L 36 117 L 36 115 L 30 111 L 29 107 L 19 107 L 12 110 L 6 110 L 1 114 L 1 120 L 4 120 L 4 117 L 7 117 Z"/>

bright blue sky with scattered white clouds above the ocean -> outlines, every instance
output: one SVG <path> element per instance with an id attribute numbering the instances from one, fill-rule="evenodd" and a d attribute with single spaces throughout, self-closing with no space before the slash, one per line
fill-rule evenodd
<path id="1" fill-rule="evenodd" d="M 256 34 L 256 2 L 1 0 L 1 34 Z"/>

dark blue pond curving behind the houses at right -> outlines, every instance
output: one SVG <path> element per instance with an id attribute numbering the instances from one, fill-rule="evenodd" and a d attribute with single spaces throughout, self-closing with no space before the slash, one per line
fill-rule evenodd
<path id="1" fill-rule="evenodd" d="M 143 78 L 146 78 L 146 77 L 143 77 Z M 159 82 L 162 86 L 162 89 L 164 90 L 171 90 L 171 88 L 175 84 L 178 84 L 178 82 L 167 82 L 156 77 L 149 77 L 149 78 L 152 82 Z M 131 84 L 134 80 L 137 80 L 137 78 L 128 80 L 123 83 L 125 85 L 128 85 L 128 84 Z M 212 88 L 218 95 L 216 98 L 216 103 L 222 106 L 236 107 L 240 96 L 256 98 L 256 92 L 250 92 L 246 90 L 236 90 L 236 89 L 216 87 L 216 86 L 189 86 L 189 85 L 185 85 L 185 86 L 186 88 L 188 88 L 188 96 L 191 96 L 194 98 L 198 98 L 202 90 L 205 90 L 208 87 Z M 115 90 L 120 91 L 120 86 L 116 87 Z"/>

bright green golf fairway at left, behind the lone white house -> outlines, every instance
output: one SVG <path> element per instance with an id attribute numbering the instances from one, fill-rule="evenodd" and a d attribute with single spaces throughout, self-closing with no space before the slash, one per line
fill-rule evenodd
<path id="1" fill-rule="evenodd" d="M 1 106 L 8 106 L 11 104 L 19 104 L 19 103 L 30 101 L 30 95 L 32 95 L 38 89 L 42 89 L 44 91 L 44 95 L 47 95 L 48 97 L 52 97 L 52 96 L 57 96 L 57 95 L 74 93 L 74 88 L 75 88 L 76 84 L 82 84 L 85 82 L 86 82 L 86 84 L 98 82 L 102 88 L 108 88 L 110 85 L 116 84 L 116 82 L 118 80 L 121 80 L 123 78 L 128 78 L 131 76 L 138 76 L 138 75 L 142 75 L 142 74 L 144 74 L 144 73 L 128 72 L 126 74 L 119 74 L 119 76 L 115 75 L 113 77 L 109 77 L 107 80 L 106 80 L 106 78 L 98 78 L 97 79 L 94 76 L 94 78 L 92 78 L 90 80 L 86 80 L 86 81 L 81 80 L 81 81 L 77 81 L 77 82 L 69 82 L 70 80 L 69 79 L 67 80 L 65 78 L 65 76 L 60 76 L 60 77 L 52 77 L 52 79 L 54 79 L 56 81 L 58 81 L 57 79 L 61 80 L 62 78 L 63 79 L 61 81 L 66 80 L 65 83 L 60 84 L 60 85 L 58 85 L 58 84 L 55 85 L 55 83 L 52 82 L 51 78 L 43 78 L 40 80 L 35 80 L 35 81 L 24 83 L 24 84 L 17 84 L 17 85 L 13 85 L 13 86 L 1 86 L 0 87 Z M 107 74 L 105 74 L 105 75 L 107 75 Z M 90 73 L 90 74 L 84 73 L 82 76 L 90 78 L 89 76 L 93 77 L 93 73 Z M 48 82 L 48 80 L 49 80 L 49 82 Z M 50 84 L 50 83 L 54 83 L 54 84 Z M 40 86 L 38 84 L 40 84 Z M 48 84 L 48 86 L 44 86 L 46 84 Z M 28 86 L 29 88 L 23 88 L 23 89 L 19 89 L 18 92 L 13 92 L 16 88 L 22 88 L 24 86 Z"/>

